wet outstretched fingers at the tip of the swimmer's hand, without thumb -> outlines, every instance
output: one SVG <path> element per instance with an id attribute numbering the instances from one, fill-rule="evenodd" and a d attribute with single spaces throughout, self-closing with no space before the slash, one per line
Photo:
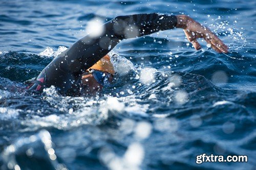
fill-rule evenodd
<path id="1" fill-rule="evenodd" d="M 204 37 L 205 41 L 208 43 L 210 41 L 211 47 L 216 50 L 217 52 L 220 51 L 220 53 L 228 53 L 228 46 L 220 39 L 218 38 L 214 33 L 209 32 L 209 36 Z"/>

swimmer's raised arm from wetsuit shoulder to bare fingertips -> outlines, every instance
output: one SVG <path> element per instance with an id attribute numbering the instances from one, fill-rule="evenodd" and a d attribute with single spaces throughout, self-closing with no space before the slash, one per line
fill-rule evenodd
<path id="1" fill-rule="evenodd" d="M 149 35 L 160 30 L 183 28 L 197 50 L 200 44 L 196 39 L 203 37 L 215 50 L 227 52 L 227 46 L 216 35 L 184 15 L 150 13 L 118 16 L 104 23 L 103 27 L 104 31 L 98 37 L 87 35 L 56 57 L 36 80 L 42 79 L 46 87 L 54 85 L 68 90 L 79 82 L 85 70 L 108 54 L 122 39 Z M 29 89 L 36 89 L 37 84 Z"/>

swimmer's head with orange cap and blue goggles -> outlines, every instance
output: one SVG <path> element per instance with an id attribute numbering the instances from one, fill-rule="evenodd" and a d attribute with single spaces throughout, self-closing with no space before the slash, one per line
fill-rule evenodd
<path id="1" fill-rule="evenodd" d="M 110 56 L 106 55 L 82 75 L 82 83 L 86 93 L 96 94 L 103 86 L 112 82 L 114 74 Z"/>

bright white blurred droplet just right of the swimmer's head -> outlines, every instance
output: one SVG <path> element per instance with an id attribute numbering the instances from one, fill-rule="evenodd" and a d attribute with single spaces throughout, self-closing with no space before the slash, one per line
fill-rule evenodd
<path id="1" fill-rule="evenodd" d="M 146 85 L 150 85 L 154 83 L 155 80 L 155 73 L 157 69 L 155 68 L 143 68 L 140 71 L 140 82 Z"/>

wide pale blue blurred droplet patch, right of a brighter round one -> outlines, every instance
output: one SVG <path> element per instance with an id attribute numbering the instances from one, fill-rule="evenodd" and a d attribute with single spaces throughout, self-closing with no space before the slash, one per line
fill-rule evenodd
<path id="1" fill-rule="evenodd" d="M 154 122 L 154 128 L 158 131 L 176 132 L 179 128 L 179 122 L 176 118 L 158 118 Z"/>

